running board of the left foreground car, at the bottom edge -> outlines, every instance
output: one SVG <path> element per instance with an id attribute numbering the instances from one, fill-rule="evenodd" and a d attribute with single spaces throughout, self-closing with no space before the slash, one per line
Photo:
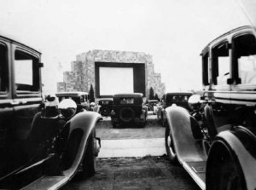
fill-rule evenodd
<path id="1" fill-rule="evenodd" d="M 23 187 L 22 190 L 53 190 L 62 187 L 67 181 L 67 176 L 43 176 L 26 187 Z"/>

